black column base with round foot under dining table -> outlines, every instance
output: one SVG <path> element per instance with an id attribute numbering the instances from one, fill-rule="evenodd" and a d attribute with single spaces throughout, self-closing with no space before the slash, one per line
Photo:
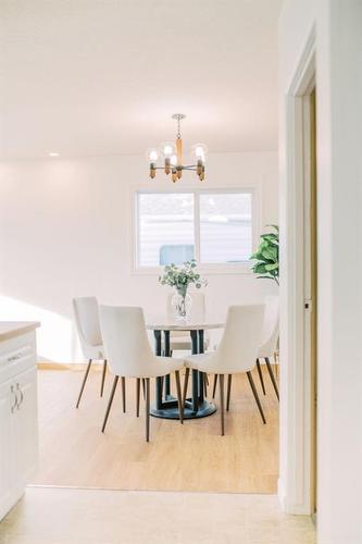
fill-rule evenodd
<path id="1" fill-rule="evenodd" d="M 203 330 L 190 331 L 190 335 L 192 354 L 203 354 Z M 161 331 L 154 331 L 154 339 L 155 354 L 161 355 Z M 170 331 L 164 331 L 164 355 L 171 355 Z M 192 370 L 192 397 L 185 401 L 184 419 L 205 418 L 216 411 L 216 406 L 204 398 L 204 378 L 203 372 Z M 179 419 L 177 399 L 171 395 L 170 390 L 170 375 L 155 379 L 155 404 L 150 410 L 154 418 Z"/>

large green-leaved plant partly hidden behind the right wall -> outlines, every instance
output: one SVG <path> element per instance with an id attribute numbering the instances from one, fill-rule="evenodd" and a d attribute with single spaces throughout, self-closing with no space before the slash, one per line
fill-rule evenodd
<path id="1" fill-rule="evenodd" d="M 250 257 L 255 261 L 252 271 L 260 279 L 273 280 L 279 285 L 279 227 L 269 225 L 274 232 L 261 235 L 258 250 Z"/>

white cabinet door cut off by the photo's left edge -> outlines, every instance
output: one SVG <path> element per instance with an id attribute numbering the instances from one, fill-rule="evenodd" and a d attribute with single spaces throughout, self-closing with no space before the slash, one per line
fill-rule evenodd
<path id="1" fill-rule="evenodd" d="M 12 381 L 0 385 L 0 519 L 11 506 L 16 470 L 13 448 L 16 397 L 13 391 Z"/>

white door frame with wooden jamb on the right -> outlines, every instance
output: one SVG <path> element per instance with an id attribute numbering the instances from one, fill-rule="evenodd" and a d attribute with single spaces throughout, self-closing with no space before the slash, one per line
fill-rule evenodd
<path id="1" fill-rule="evenodd" d="M 280 193 L 280 477 L 288 514 L 316 509 L 317 177 L 315 28 L 286 92 Z M 285 193 L 284 193 L 285 191 Z"/>

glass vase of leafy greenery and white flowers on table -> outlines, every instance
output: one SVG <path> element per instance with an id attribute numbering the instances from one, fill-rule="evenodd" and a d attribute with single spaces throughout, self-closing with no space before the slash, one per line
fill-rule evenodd
<path id="1" fill-rule="evenodd" d="M 189 318 L 192 304 L 192 299 L 187 293 L 188 287 L 194 284 L 197 289 L 200 289 L 208 284 L 198 273 L 195 259 L 184 262 L 179 267 L 173 263 L 166 264 L 159 282 L 161 285 L 170 285 L 175 288 L 176 293 L 172 298 L 174 316 L 176 320 L 184 321 Z"/>

